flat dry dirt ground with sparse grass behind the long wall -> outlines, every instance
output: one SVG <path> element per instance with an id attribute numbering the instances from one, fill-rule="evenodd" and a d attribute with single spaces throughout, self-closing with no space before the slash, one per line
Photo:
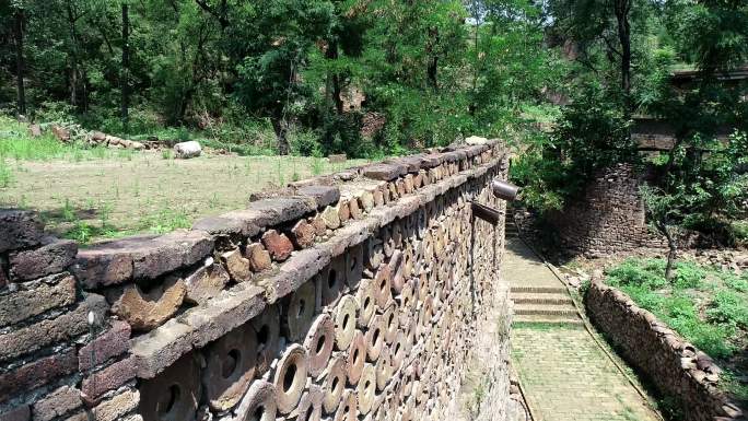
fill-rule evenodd
<path id="1" fill-rule="evenodd" d="M 160 152 L 74 162 L 13 162 L 0 208 L 42 212 L 47 229 L 81 242 L 187 227 L 203 215 L 242 209 L 249 194 L 363 163 L 296 156 L 203 155 L 174 160 Z"/>

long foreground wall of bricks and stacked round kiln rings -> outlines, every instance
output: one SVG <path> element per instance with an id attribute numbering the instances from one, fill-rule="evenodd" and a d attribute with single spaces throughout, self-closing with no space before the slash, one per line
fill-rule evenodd
<path id="1" fill-rule="evenodd" d="M 468 202 L 503 209 L 506 169 L 495 143 L 458 147 L 81 250 L 0 211 L 0 421 L 444 419 L 475 332 L 509 326 L 503 221 Z"/>

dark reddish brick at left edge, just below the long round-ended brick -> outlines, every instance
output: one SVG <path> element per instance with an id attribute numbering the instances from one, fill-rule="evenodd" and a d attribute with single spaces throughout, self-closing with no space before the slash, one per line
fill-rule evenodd
<path id="1" fill-rule="evenodd" d="M 78 358 L 75 350 L 70 349 L 0 374 L 0 402 L 7 401 L 20 393 L 43 386 L 75 370 L 78 370 Z"/>

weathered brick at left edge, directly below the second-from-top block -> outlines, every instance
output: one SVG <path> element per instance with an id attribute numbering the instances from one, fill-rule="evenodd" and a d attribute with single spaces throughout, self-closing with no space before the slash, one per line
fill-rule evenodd
<path id="1" fill-rule="evenodd" d="M 19 290 L 0 295 L 0 327 L 75 302 L 75 279 L 69 273 L 52 274 Z"/>

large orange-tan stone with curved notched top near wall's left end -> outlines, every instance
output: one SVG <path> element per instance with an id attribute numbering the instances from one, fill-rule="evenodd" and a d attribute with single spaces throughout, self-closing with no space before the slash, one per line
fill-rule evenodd
<path id="1" fill-rule="evenodd" d="M 186 293 L 185 281 L 177 277 L 170 277 L 148 293 L 131 283 L 112 294 L 112 313 L 125 319 L 133 330 L 152 330 L 179 309 Z"/>

